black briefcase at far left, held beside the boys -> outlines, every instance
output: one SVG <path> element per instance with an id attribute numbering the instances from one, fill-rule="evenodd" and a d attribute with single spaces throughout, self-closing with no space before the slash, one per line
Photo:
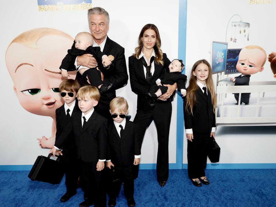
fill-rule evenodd
<path id="1" fill-rule="evenodd" d="M 64 176 L 64 164 L 61 161 L 61 157 L 57 156 L 56 160 L 50 159 L 51 155 L 48 157 L 38 156 L 37 160 L 34 162 L 32 169 L 28 177 L 32 181 L 41 181 L 51 184 L 59 184 Z M 53 171 L 55 173 L 53 173 Z"/>

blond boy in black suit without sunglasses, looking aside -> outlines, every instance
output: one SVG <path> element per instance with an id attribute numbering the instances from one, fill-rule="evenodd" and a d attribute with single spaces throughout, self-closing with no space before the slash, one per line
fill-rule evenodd
<path id="1" fill-rule="evenodd" d="M 55 142 L 49 153 L 55 155 L 68 143 L 71 133 L 74 136 L 74 148 L 78 164 L 82 168 L 82 178 L 87 199 L 80 207 L 106 206 L 106 192 L 103 185 L 102 172 L 106 161 L 107 119 L 100 116 L 94 106 L 100 99 L 99 90 L 87 85 L 81 87 L 77 94 L 78 107 L 81 111 L 72 116 L 71 121 Z"/>

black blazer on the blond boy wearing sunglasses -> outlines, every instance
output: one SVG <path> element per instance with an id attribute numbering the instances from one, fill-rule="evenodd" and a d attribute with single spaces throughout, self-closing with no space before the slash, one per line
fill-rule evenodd
<path id="1" fill-rule="evenodd" d="M 124 133 L 120 138 L 114 122 L 108 127 L 107 158 L 115 166 L 131 165 L 134 155 L 141 154 L 138 125 L 126 120 Z"/>

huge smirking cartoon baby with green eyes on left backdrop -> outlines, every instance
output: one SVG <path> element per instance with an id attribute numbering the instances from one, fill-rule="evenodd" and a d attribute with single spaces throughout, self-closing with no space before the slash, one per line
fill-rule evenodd
<path id="1" fill-rule="evenodd" d="M 39 146 L 52 148 L 55 143 L 55 110 L 64 103 L 59 85 L 60 63 L 74 39 L 52 28 L 36 28 L 18 35 L 6 51 L 6 65 L 14 82 L 21 106 L 30 113 L 53 118 L 51 137 L 38 138 Z M 76 71 L 68 78 L 74 79 Z"/>

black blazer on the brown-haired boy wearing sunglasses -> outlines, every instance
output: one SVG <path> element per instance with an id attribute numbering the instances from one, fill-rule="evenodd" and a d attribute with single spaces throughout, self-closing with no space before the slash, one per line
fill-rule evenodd
<path id="1" fill-rule="evenodd" d="M 76 114 L 76 112 L 80 111 L 78 108 L 78 100 L 76 99 L 76 103 L 74 106 L 74 109 L 72 111 L 71 117 Z M 60 135 L 62 134 L 62 131 L 65 129 L 65 127 L 68 125 L 70 120 L 67 120 L 67 117 L 65 115 L 65 110 L 64 110 L 64 104 L 55 110 L 55 116 L 56 116 L 56 121 L 57 121 L 57 131 L 55 133 L 55 140 L 57 140 Z M 64 143 L 62 149 L 63 149 L 63 154 L 64 156 L 67 156 L 68 153 L 75 152 L 75 141 L 74 141 L 74 136 L 73 134 L 70 134 L 68 137 L 68 141 Z"/>

